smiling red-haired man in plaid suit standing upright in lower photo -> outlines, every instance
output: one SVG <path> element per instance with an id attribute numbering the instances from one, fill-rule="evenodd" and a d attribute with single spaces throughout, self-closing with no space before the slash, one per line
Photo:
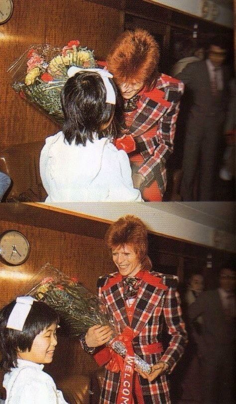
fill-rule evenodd
<path id="1" fill-rule="evenodd" d="M 106 243 L 117 270 L 101 276 L 97 286 L 116 332 L 96 325 L 81 336 L 83 349 L 106 365 L 100 404 L 170 404 L 169 374 L 187 343 L 178 278 L 152 270 L 147 227 L 139 217 L 113 222 Z M 124 344 L 123 359 L 105 346 L 114 336 Z"/>

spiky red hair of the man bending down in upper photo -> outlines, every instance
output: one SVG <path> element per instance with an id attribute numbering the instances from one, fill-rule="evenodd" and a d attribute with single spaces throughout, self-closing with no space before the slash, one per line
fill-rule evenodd
<path id="1" fill-rule="evenodd" d="M 108 57 L 108 70 L 118 85 L 144 83 L 148 90 L 155 86 L 158 72 L 159 46 L 144 29 L 124 31 L 115 41 Z"/>

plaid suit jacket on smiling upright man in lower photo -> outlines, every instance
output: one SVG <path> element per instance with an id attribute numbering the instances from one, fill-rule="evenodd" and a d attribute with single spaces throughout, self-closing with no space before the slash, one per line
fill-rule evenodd
<path id="1" fill-rule="evenodd" d="M 145 276 L 146 275 L 146 276 Z M 148 277 L 148 282 L 146 281 Z M 179 295 L 176 290 L 177 277 L 157 272 L 144 272 L 141 281 L 131 328 L 134 352 L 149 364 L 164 361 L 170 372 L 183 354 L 187 342 L 185 325 L 181 318 Z M 99 296 L 107 305 L 118 333 L 130 326 L 123 300 L 123 281 L 118 272 L 102 276 L 98 280 Z M 163 329 L 167 327 L 170 341 L 166 350 L 158 354 L 145 354 L 144 345 L 162 342 Z M 144 403 L 170 403 L 166 375 L 149 383 L 140 377 Z M 101 403 L 115 404 L 119 386 L 119 373 L 107 370 Z"/>

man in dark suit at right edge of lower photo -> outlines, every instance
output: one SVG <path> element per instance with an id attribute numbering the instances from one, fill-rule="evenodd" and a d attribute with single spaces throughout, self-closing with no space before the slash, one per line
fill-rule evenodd
<path id="1" fill-rule="evenodd" d="M 189 318 L 203 317 L 201 352 L 205 404 L 233 404 L 236 273 L 227 262 L 220 272 L 220 287 L 199 295 L 189 307 Z"/>

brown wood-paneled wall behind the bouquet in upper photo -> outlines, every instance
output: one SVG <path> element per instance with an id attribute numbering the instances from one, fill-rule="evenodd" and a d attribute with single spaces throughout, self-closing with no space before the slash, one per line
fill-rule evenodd
<path id="1" fill-rule="evenodd" d="M 58 130 L 11 88 L 7 68 L 33 43 L 63 46 L 71 39 L 105 59 L 123 30 L 123 12 L 85 0 L 13 0 L 13 15 L 0 25 L 0 149 L 44 140 Z"/>

